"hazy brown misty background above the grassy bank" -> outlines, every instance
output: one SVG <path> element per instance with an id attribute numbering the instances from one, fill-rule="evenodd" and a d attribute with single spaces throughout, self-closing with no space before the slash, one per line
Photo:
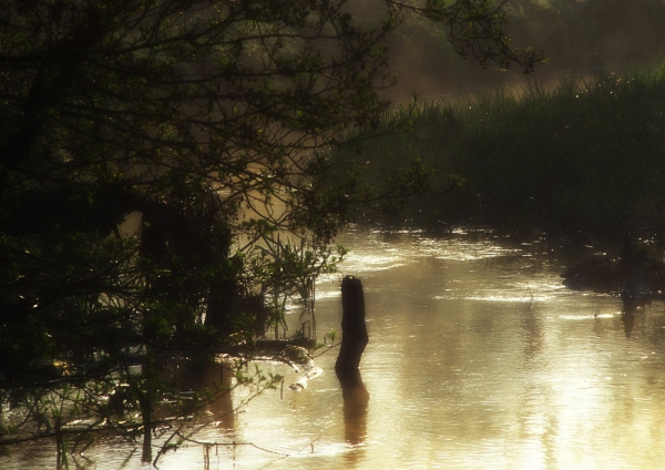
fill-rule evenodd
<path id="1" fill-rule="evenodd" d="M 562 75 L 591 75 L 595 71 L 624 72 L 663 58 L 665 1 L 663 0 L 510 0 L 508 31 L 514 48 L 544 51 L 548 63 L 533 78 L 543 84 Z M 361 16 L 372 1 L 357 3 Z M 390 37 L 390 68 L 398 84 L 386 96 L 405 102 L 467 93 L 482 88 L 522 86 L 528 79 L 518 67 L 500 70 L 460 59 L 447 42 L 444 25 L 409 16 Z"/>

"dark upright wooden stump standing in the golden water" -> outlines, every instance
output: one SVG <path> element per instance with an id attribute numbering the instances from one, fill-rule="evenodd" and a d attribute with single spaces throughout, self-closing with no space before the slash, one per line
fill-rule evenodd
<path id="1" fill-rule="evenodd" d="M 369 338 L 365 325 L 365 294 L 360 279 L 346 276 L 341 282 L 341 346 L 335 364 L 337 376 L 355 376 Z"/>

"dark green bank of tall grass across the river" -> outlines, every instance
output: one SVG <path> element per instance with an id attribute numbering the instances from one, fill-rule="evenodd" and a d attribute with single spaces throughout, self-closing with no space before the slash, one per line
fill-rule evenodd
<path id="1" fill-rule="evenodd" d="M 665 228 L 665 68 L 423 102 L 411 119 L 355 157 L 377 184 L 417 157 L 436 167 L 432 194 L 389 223 L 590 241 Z M 458 194 L 436 194 L 456 182 Z"/>

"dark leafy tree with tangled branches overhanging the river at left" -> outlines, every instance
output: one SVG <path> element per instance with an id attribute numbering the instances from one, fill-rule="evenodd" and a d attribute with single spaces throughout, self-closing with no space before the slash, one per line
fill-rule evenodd
<path id="1" fill-rule="evenodd" d="M 419 190 L 329 177 L 340 135 L 377 132 L 392 83 L 382 42 L 403 14 L 448 24 L 482 62 L 540 60 L 511 49 L 487 0 L 372 7 L 357 19 L 328 0 L 0 4 L 0 388 L 92 380 L 99 398 L 121 377 L 150 459 L 160 359 L 250 338 L 259 315 L 238 299 L 301 290 L 355 204 Z M 121 225 L 131 214 L 135 233 Z M 276 249 L 279 232 L 307 241 L 301 262 L 278 259 L 297 252 Z"/>

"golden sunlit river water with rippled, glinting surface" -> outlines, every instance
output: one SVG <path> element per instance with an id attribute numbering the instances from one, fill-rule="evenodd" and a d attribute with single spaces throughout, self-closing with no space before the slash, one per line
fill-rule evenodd
<path id="1" fill-rule="evenodd" d="M 186 445 L 160 469 L 663 468 L 663 303 L 624 315 L 617 298 L 563 288 L 569 262 L 541 239 L 350 229 L 339 242 L 342 274 L 365 286 L 364 390 L 342 397 L 336 347 L 315 352 L 307 381 L 259 365 L 306 387 L 265 391 L 194 437 L 219 446 Z M 340 279 L 317 284 L 319 340 L 340 330 Z M 78 463 L 140 468 L 122 449 L 93 446 Z"/>

